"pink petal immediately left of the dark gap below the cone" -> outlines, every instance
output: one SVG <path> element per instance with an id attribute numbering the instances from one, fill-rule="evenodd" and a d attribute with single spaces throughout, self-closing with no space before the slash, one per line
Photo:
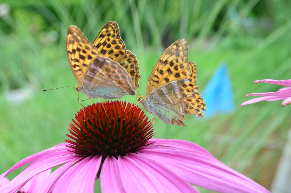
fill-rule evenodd
<path id="1" fill-rule="evenodd" d="M 55 192 L 94 193 L 95 180 L 101 164 L 101 156 L 88 156 L 70 167 L 58 180 Z"/>

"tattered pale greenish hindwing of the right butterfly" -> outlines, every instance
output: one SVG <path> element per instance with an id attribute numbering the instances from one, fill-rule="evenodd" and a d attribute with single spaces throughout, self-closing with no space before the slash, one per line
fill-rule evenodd
<path id="1" fill-rule="evenodd" d="M 186 96 L 182 85 L 185 83 L 189 80 L 175 80 L 154 90 L 148 97 L 152 103 L 150 111 L 168 124 L 186 126 L 184 114 L 189 112 L 184 103 Z"/>

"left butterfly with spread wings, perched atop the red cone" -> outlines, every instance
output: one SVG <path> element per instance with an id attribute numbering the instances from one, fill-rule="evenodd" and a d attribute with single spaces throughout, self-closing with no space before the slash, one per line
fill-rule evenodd
<path id="1" fill-rule="evenodd" d="M 108 22 L 93 45 L 78 27 L 71 25 L 66 47 L 72 73 L 78 82 L 75 90 L 95 99 L 135 94 L 141 78 L 139 62 L 136 55 L 126 50 L 116 22 Z"/>

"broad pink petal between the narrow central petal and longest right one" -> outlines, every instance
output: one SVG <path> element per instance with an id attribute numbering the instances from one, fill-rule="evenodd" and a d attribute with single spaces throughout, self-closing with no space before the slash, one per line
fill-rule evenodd
<path id="1" fill-rule="evenodd" d="M 136 153 L 117 159 L 126 192 L 198 192 L 169 168 Z"/>

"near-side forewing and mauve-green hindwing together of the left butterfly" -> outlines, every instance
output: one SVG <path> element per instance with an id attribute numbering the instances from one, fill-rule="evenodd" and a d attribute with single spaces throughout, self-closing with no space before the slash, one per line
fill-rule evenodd
<path id="1" fill-rule="evenodd" d="M 121 98 L 134 95 L 133 80 L 117 62 L 93 46 L 83 32 L 71 25 L 67 31 L 68 60 L 78 84 L 75 89 L 89 98 Z"/>

